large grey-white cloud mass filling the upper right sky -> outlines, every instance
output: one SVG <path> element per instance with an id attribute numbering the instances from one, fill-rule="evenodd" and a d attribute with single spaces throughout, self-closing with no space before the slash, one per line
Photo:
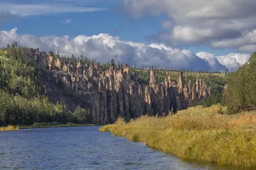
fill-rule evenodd
<path id="1" fill-rule="evenodd" d="M 254 33 L 244 34 L 256 30 L 255 0 L 122 0 L 122 6 L 135 18 L 167 15 L 163 30 L 152 36 L 163 43 L 255 50 Z"/>

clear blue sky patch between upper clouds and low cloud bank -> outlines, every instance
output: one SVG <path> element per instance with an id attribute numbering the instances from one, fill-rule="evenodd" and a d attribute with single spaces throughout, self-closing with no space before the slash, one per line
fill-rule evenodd
<path id="1" fill-rule="evenodd" d="M 95 0 L 94 0 L 95 1 Z M 10 2 L 4 0 L 4 2 Z M 13 1 L 15 4 L 41 4 L 51 1 Z M 56 1 L 57 2 L 57 1 Z M 65 2 L 65 1 L 64 1 Z M 81 1 L 68 4 L 79 5 Z M 124 41 L 151 42 L 148 36 L 161 30 L 159 17 L 145 17 L 134 19 L 128 13 L 120 11 L 120 1 L 88 1 L 81 3 L 82 6 L 92 8 L 103 8 L 103 11 L 91 12 L 70 12 L 58 14 L 45 14 L 26 16 L 4 22 L 1 29 L 9 30 L 13 27 L 19 28 L 19 34 L 35 34 L 36 36 L 64 36 L 75 37 L 79 34 L 92 36 L 94 34 L 106 33 L 112 36 L 119 36 Z M 81 6 L 81 5 L 79 5 Z M 1 8 L 1 7 L 0 7 Z M 68 24 L 63 24 L 71 20 Z M 147 39 L 147 40 L 146 40 Z"/>

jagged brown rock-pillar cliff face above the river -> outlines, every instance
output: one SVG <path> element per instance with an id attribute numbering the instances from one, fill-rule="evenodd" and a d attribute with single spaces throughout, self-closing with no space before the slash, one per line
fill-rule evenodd
<path id="1" fill-rule="evenodd" d="M 102 71 L 97 63 L 87 66 L 80 60 L 77 63 L 61 62 L 52 52 L 46 54 L 38 49 L 29 49 L 28 54 L 35 57 L 38 66 L 47 69 L 47 81 L 51 81 L 72 96 L 77 104 L 90 108 L 93 124 L 108 124 L 123 117 L 129 121 L 141 115 L 168 115 L 188 108 L 190 101 L 198 101 L 211 95 L 209 85 L 201 78 L 196 83 L 187 84 L 183 73 L 179 81 L 170 76 L 163 83 L 157 83 L 156 70 L 150 71 L 150 83 L 144 85 L 136 81 L 130 67 L 111 64 Z"/>

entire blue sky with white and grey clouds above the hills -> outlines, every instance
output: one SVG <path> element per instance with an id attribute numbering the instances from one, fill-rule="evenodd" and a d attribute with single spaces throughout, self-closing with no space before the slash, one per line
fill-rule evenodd
<path id="1" fill-rule="evenodd" d="M 255 0 L 1 0 L 0 46 L 236 71 L 256 50 L 255 9 Z"/>

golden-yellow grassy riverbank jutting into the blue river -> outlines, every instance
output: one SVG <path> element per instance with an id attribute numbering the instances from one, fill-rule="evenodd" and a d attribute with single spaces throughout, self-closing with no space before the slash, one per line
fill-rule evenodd
<path id="1" fill-rule="evenodd" d="M 125 124 L 105 125 L 112 132 L 181 159 L 218 162 L 256 169 L 256 112 L 225 115 L 227 109 L 196 106 L 168 117 L 143 116 Z"/>

